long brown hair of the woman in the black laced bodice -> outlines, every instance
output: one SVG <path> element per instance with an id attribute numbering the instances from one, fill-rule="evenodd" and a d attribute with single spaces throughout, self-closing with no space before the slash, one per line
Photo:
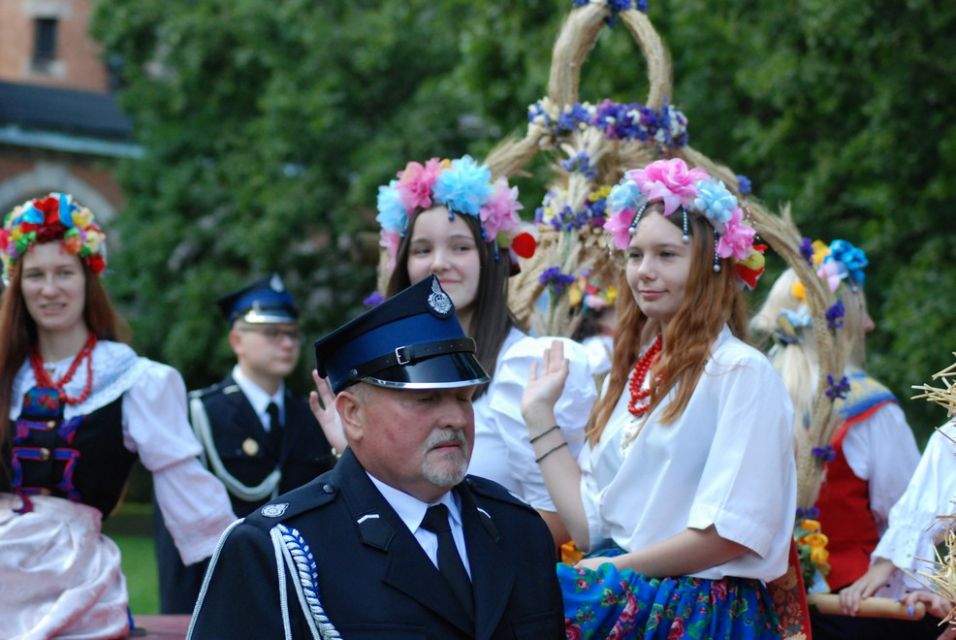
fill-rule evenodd
<path id="1" fill-rule="evenodd" d="M 37 341 L 37 325 L 23 302 L 23 260 L 10 269 L 10 284 L 3 291 L 0 302 L 0 447 L 7 437 L 13 379 L 30 356 Z M 80 260 L 85 278 L 86 302 L 83 320 L 87 328 L 100 340 L 126 340 L 129 335 L 125 321 L 114 311 L 100 279 Z M 3 460 L 0 457 L 0 469 Z"/>

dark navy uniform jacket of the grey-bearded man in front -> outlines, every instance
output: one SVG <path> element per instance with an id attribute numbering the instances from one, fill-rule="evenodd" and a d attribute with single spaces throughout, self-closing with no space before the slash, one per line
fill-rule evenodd
<path id="1" fill-rule="evenodd" d="M 347 450 L 334 470 L 229 530 L 210 564 L 190 637 L 282 638 L 288 625 L 292 638 L 564 638 L 554 543 L 544 521 L 489 480 L 468 476 L 454 491 L 474 621 Z M 304 558 L 314 558 L 314 566 Z M 323 620 L 334 629 L 318 635 Z"/>

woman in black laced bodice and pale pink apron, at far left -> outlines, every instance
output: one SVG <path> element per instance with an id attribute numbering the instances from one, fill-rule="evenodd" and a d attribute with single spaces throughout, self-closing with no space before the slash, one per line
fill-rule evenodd
<path id="1" fill-rule="evenodd" d="M 105 240 L 67 194 L 23 203 L 0 230 L 0 637 L 127 635 L 119 549 L 100 524 L 137 457 L 186 564 L 234 520 L 196 458 L 182 378 L 115 341 Z"/>

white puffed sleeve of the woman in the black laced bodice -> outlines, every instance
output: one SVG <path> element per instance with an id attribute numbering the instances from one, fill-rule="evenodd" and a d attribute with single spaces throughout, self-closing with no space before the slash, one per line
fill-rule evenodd
<path id="1" fill-rule="evenodd" d="M 172 367 L 149 362 L 123 395 L 123 443 L 153 474 L 156 501 L 183 563 L 212 555 L 235 520 L 225 487 L 200 463 L 186 386 Z"/>

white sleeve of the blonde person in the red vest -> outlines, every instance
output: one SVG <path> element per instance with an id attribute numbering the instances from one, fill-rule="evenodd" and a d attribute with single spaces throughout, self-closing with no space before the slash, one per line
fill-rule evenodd
<path id="1" fill-rule="evenodd" d="M 882 534 L 890 509 L 906 491 L 919 464 L 916 438 L 900 406 L 885 404 L 854 425 L 843 441 L 843 455 L 856 477 L 869 484 L 870 511 Z"/>

